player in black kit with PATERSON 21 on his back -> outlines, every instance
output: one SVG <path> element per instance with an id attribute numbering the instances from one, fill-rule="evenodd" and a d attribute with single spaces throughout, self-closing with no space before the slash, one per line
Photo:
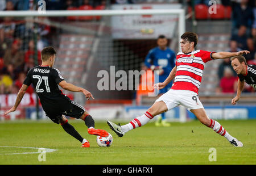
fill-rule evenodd
<path id="1" fill-rule="evenodd" d="M 56 124 L 61 124 L 64 131 L 82 143 L 82 147 L 89 147 L 89 142 L 80 136 L 76 129 L 68 123 L 64 115 L 84 120 L 90 135 L 108 136 L 109 133 L 103 129 L 94 128 L 94 120 L 92 116 L 85 111 L 84 107 L 69 99 L 59 89 L 58 85 L 65 90 L 82 92 L 87 99 L 94 99 L 89 91 L 67 83 L 61 76 L 59 70 L 53 68 L 56 55 L 55 49 L 53 47 L 46 47 L 42 50 L 41 55 L 42 65 L 35 66 L 27 73 L 27 77 L 19 90 L 14 106 L 3 115 L 7 115 L 16 110 L 28 86 L 32 83 L 41 101 L 43 110 L 46 112 L 49 119 Z"/>

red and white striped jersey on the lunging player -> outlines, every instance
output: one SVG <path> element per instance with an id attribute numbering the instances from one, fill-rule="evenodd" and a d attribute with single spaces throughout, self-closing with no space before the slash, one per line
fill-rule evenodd
<path id="1" fill-rule="evenodd" d="M 204 65 L 212 60 L 213 52 L 197 50 L 188 54 L 177 53 L 177 72 L 171 89 L 191 90 L 198 94 L 202 81 Z"/>

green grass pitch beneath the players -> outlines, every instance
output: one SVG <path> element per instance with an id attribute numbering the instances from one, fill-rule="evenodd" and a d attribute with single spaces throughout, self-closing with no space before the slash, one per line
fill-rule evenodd
<path id="1" fill-rule="evenodd" d="M 114 138 L 112 146 L 100 148 L 96 136 L 88 135 L 81 120 L 69 120 L 90 142 L 90 148 L 69 136 L 60 125 L 48 121 L 0 122 L 0 146 L 27 146 L 56 149 L 46 153 L 46 161 L 38 161 L 37 149 L 0 147 L 0 164 L 256 164 L 256 120 L 218 120 L 230 133 L 242 141 L 243 148 L 235 148 L 228 141 L 199 121 L 171 123 L 171 127 L 155 127 L 148 123 L 118 137 L 104 122 L 96 121 L 96 128 L 105 129 Z M 210 148 L 216 149 L 216 160 L 209 161 Z"/>

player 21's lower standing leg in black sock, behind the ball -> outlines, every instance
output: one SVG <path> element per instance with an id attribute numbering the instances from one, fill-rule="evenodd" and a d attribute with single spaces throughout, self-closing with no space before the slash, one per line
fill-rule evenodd
<path id="1" fill-rule="evenodd" d="M 86 139 L 84 139 L 71 124 L 68 123 L 68 119 L 65 118 L 65 116 L 61 116 L 60 124 L 65 132 L 67 132 L 69 135 L 75 137 L 77 140 L 79 140 L 82 143 L 82 147 L 90 146 L 89 142 Z"/>

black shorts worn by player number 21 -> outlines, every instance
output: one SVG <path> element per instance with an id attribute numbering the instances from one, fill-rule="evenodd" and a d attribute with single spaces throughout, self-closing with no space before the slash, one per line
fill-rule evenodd
<path id="1" fill-rule="evenodd" d="M 46 116 L 57 124 L 60 123 L 62 115 L 79 119 L 85 112 L 85 108 L 73 100 L 64 104 L 60 103 L 57 106 L 52 106 L 52 104 L 42 104 L 42 106 Z"/>

